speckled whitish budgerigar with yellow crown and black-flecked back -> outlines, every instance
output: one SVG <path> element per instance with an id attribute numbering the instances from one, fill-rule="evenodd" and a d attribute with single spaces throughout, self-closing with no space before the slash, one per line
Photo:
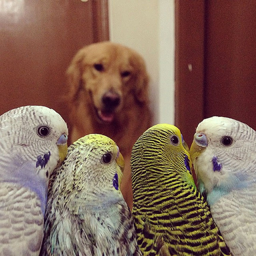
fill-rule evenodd
<path id="1" fill-rule="evenodd" d="M 68 148 L 52 176 L 42 256 L 139 256 L 120 192 L 124 158 L 110 138 L 89 134 Z"/>

